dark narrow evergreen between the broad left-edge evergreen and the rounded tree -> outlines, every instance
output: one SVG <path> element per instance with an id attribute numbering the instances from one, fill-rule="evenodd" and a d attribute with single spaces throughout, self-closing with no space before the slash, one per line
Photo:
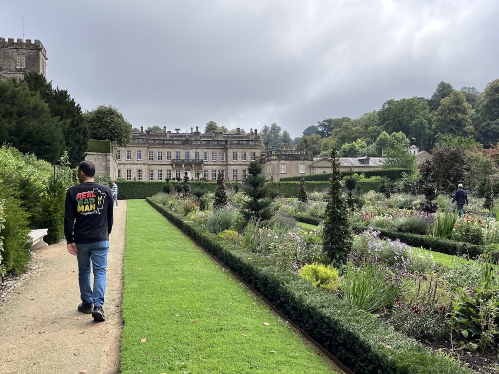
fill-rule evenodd
<path id="1" fill-rule="evenodd" d="M 52 82 L 47 82 L 41 74 L 26 73 L 24 81 L 31 91 L 40 94 L 48 104 L 52 116 L 59 118 L 64 135 L 64 149 L 68 153 L 71 166 L 76 167 L 85 159 L 89 139 L 80 105 L 71 98 L 67 90 L 52 88 Z"/>

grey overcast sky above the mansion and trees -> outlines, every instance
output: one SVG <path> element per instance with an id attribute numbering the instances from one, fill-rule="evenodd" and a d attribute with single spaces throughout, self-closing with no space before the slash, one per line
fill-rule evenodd
<path id="1" fill-rule="evenodd" d="M 47 78 L 134 127 L 260 129 L 499 78 L 497 0 L 8 1 L 0 36 L 40 39 Z"/>

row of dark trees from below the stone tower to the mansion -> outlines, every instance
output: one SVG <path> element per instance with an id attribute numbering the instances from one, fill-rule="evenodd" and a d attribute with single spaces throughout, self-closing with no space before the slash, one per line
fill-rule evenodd
<path id="1" fill-rule="evenodd" d="M 0 145 L 51 164 L 67 152 L 74 168 L 85 159 L 89 139 L 127 146 L 130 135 L 130 124 L 116 108 L 101 105 L 84 112 L 67 90 L 54 88 L 43 75 L 0 79 Z"/>

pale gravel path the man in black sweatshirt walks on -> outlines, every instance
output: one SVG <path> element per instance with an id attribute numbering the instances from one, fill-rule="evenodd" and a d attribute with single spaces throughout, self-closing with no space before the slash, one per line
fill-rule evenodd
<path id="1" fill-rule="evenodd" d="M 76 311 L 76 257 L 66 244 L 37 249 L 40 266 L 11 291 L 0 309 L 1 374 L 116 374 L 120 360 L 121 295 L 127 202 L 114 209 L 110 237 L 107 321 Z"/>

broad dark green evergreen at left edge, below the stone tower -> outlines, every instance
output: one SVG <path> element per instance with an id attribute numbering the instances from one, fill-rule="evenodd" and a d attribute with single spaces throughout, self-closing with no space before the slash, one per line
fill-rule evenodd
<path id="1" fill-rule="evenodd" d="M 47 103 L 25 82 L 0 80 L 0 144 L 9 143 L 22 153 L 56 163 L 64 147 L 62 128 Z"/>

